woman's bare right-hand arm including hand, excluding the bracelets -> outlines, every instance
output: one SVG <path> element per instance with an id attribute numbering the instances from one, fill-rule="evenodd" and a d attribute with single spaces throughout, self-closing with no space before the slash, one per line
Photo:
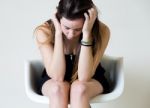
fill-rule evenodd
<path id="1" fill-rule="evenodd" d="M 94 19 L 96 18 L 96 11 L 94 9 L 89 10 L 89 16 L 85 14 L 85 24 L 83 27 L 83 41 L 91 40 L 91 29 L 94 23 Z M 102 35 L 102 46 L 99 54 L 99 59 L 94 61 L 94 57 L 92 55 L 92 47 L 82 46 L 79 56 L 79 63 L 78 63 L 78 78 L 81 81 L 88 81 L 94 75 L 97 65 L 100 62 L 101 57 L 104 54 L 106 46 L 109 41 L 109 29 L 104 24 L 102 24 L 102 29 L 100 29 Z M 96 65 L 94 65 L 96 62 Z"/>

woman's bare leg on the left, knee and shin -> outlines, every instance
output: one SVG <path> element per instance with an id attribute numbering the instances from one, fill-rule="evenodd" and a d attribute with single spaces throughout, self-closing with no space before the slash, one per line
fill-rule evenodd
<path id="1" fill-rule="evenodd" d="M 50 79 L 42 87 L 42 93 L 49 98 L 50 108 L 67 108 L 70 85 Z"/>

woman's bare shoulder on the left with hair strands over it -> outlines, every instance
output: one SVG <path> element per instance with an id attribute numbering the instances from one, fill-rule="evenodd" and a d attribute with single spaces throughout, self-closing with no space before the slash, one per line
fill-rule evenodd
<path id="1" fill-rule="evenodd" d="M 39 44 L 49 43 L 52 41 L 53 33 L 51 25 L 48 22 L 44 22 L 39 25 L 34 30 L 34 36 L 36 38 L 36 42 Z"/>

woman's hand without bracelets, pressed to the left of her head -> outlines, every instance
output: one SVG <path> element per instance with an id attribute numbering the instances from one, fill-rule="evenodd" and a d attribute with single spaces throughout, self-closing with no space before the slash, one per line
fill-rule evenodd
<path id="1" fill-rule="evenodd" d="M 53 17 L 52 17 L 52 21 L 53 21 L 54 26 L 55 26 L 55 34 L 62 35 L 60 22 L 58 21 L 58 18 L 56 16 L 56 14 L 57 14 L 57 9 L 54 11 L 54 14 L 53 14 Z"/>

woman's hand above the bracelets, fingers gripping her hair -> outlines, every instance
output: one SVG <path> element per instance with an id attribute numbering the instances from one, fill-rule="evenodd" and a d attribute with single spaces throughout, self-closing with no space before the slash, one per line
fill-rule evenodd
<path id="1" fill-rule="evenodd" d="M 89 15 L 88 15 L 89 14 Z M 88 14 L 84 13 L 85 21 L 82 29 L 83 38 L 89 38 L 91 36 L 92 28 L 97 17 L 97 10 L 92 7 L 88 10 Z"/>

